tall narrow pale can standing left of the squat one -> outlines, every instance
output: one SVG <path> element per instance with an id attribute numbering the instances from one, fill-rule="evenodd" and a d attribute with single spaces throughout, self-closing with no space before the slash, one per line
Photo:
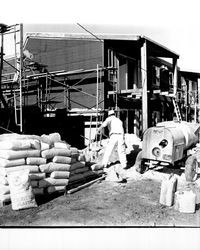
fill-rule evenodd
<path id="1" fill-rule="evenodd" d="M 160 204 L 171 207 L 174 203 L 174 194 L 177 188 L 177 178 L 170 175 L 168 179 L 163 180 L 160 191 Z"/>

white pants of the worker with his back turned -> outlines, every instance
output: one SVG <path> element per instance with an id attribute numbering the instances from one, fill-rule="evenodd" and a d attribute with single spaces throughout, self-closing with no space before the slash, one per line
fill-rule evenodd
<path id="1" fill-rule="evenodd" d="M 111 134 L 108 145 L 105 149 L 105 153 L 102 159 L 102 164 L 104 167 L 108 165 L 110 155 L 117 144 L 117 150 L 119 155 L 119 161 L 121 163 L 122 168 L 126 168 L 127 160 L 126 160 L 126 147 L 124 141 L 123 134 Z"/>

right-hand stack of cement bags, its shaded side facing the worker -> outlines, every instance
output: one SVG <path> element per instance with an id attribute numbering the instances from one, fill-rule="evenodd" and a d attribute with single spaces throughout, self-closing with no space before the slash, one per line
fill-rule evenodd
<path id="1" fill-rule="evenodd" d="M 39 166 L 40 171 L 46 174 L 46 178 L 39 181 L 39 188 L 46 188 L 48 193 L 64 191 L 70 185 L 100 174 L 81 161 L 77 148 L 62 141 L 55 142 L 50 149 L 43 150 L 41 156 L 47 163 Z"/>

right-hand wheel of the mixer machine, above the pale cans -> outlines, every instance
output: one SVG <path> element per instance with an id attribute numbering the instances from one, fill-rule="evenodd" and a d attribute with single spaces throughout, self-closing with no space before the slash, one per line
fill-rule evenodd
<path id="1" fill-rule="evenodd" d="M 189 156 L 185 162 L 186 181 L 195 181 L 198 173 L 198 161 L 195 155 Z"/>

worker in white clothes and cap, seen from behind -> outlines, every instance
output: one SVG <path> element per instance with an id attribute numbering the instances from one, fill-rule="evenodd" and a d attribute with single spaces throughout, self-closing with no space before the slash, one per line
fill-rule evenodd
<path id="1" fill-rule="evenodd" d="M 118 174 L 122 180 L 125 180 L 124 169 L 127 166 L 126 159 L 126 147 L 124 139 L 124 129 L 122 121 L 115 116 L 114 110 L 108 111 L 108 117 L 102 123 L 102 125 L 97 129 L 97 133 L 101 132 L 105 127 L 108 127 L 109 130 L 109 142 L 103 156 L 102 164 L 104 168 L 107 167 L 110 155 L 115 145 L 117 144 L 119 161 L 121 163 L 121 169 L 118 169 Z"/>

